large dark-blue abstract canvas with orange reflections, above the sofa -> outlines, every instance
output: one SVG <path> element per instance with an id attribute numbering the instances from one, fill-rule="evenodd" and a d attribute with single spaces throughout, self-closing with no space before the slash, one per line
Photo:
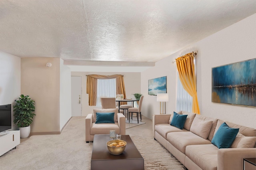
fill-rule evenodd
<path id="1" fill-rule="evenodd" d="M 212 102 L 256 107 L 256 59 L 212 68 Z"/>

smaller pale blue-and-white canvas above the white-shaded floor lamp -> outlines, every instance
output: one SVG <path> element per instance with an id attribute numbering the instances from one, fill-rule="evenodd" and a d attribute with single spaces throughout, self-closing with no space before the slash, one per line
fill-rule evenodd
<path id="1" fill-rule="evenodd" d="M 156 96 L 157 93 L 167 93 L 166 77 L 167 76 L 148 80 L 148 94 Z"/>

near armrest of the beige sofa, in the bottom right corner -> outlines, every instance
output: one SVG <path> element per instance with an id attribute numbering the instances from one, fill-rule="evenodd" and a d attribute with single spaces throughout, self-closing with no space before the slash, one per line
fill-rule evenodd
<path id="1" fill-rule="evenodd" d="M 218 170 L 242 170 L 243 158 L 255 158 L 256 148 L 225 148 L 218 150 Z"/>

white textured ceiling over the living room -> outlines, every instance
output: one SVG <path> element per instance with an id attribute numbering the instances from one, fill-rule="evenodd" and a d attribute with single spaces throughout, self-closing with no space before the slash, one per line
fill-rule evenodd
<path id="1" fill-rule="evenodd" d="M 0 0 L 0 51 L 150 65 L 254 13 L 256 0 Z"/>

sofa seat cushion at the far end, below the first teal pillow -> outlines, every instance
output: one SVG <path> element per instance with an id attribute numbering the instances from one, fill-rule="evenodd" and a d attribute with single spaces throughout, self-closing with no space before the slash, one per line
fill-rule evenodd
<path id="1" fill-rule="evenodd" d="M 169 132 L 188 132 L 186 129 L 180 129 L 169 124 L 158 124 L 155 125 L 155 130 L 158 132 L 162 137 L 166 139 L 167 134 Z"/>

